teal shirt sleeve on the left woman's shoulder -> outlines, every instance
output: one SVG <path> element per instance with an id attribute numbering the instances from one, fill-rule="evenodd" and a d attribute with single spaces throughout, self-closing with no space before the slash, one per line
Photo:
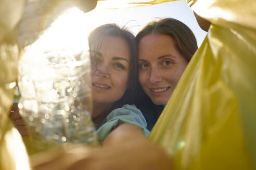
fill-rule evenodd
<path id="1" fill-rule="evenodd" d="M 135 124 L 143 130 L 146 136 L 149 134 L 149 131 L 146 129 L 147 122 L 142 112 L 135 105 L 124 105 L 111 111 L 107 116 L 107 122 L 96 131 L 100 143 L 113 129 L 123 123 Z"/>

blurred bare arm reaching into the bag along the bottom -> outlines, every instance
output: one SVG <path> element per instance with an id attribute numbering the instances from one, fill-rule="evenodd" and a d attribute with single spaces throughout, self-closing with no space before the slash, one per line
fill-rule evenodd
<path id="1" fill-rule="evenodd" d="M 41 153 L 40 153 L 41 154 Z M 142 130 L 133 124 L 122 124 L 105 139 L 104 147 L 88 148 L 72 146 L 64 152 L 53 155 L 45 153 L 34 169 L 92 169 L 92 170 L 171 170 L 172 162 L 167 153 L 143 136 Z M 36 162 L 32 158 L 32 162 Z"/>

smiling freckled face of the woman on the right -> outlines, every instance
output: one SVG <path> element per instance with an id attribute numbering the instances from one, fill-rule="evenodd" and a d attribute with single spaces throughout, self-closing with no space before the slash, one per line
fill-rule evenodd
<path id="1" fill-rule="evenodd" d="M 139 82 L 156 105 L 169 101 L 187 61 L 175 48 L 172 37 L 149 34 L 139 41 Z"/>

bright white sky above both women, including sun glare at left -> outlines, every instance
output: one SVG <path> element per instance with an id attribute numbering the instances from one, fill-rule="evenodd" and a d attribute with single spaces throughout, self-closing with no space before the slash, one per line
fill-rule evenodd
<path id="1" fill-rule="evenodd" d="M 117 1 L 113 0 L 113 2 Z M 100 2 L 110 6 L 114 5 L 108 4 L 110 1 Z M 64 12 L 33 44 L 31 49 L 34 50 L 29 51 L 33 53 L 33 51 L 52 50 L 60 47 L 78 51 L 84 50 L 88 34 L 102 24 L 116 23 L 120 26 L 126 26 L 136 35 L 149 21 L 167 17 L 178 19 L 188 25 L 195 34 L 199 46 L 207 34 L 200 29 L 193 11 L 185 1 L 126 9 L 105 9 L 106 5 L 102 5 L 100 2 L 94 10 L 87 13 L 83 13 L 77 8 Z"/>

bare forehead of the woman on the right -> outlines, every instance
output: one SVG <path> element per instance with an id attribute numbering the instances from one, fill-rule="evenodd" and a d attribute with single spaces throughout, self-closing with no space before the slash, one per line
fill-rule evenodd
<path id="1" fill-rule="evenodd" d="M 139 41 L 139 58 L 158 58 L 159 56 L 171 54 L 181 55 L 176 49 L 175 41 L 169 35 L 149 34 Z"/>

